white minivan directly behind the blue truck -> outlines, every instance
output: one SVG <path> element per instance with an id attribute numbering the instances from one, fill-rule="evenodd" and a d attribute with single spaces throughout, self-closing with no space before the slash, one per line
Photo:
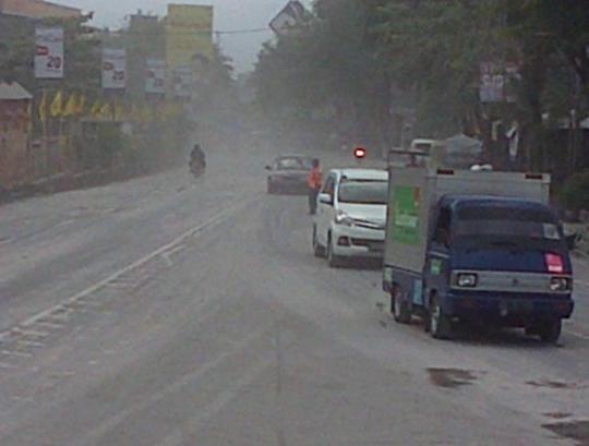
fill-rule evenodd
<path id="1" fill-rule="evenodd" d="M 313 250 L 329 266 L 344 258 L 382 258 L 388 176 L 376 169 L 336 169 L 317 197 Z"/>

